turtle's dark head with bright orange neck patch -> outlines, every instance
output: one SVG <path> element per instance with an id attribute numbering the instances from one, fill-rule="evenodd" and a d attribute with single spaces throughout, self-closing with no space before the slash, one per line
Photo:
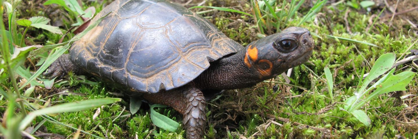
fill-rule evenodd
<path id="1" fill-rule="evenodd" d="M 260 78 L 272 78 L 308 61 L 313 48 L 314 40 L 308 29 L 290 27 L 247 45 L 244 63 L 257 69 Z"/>

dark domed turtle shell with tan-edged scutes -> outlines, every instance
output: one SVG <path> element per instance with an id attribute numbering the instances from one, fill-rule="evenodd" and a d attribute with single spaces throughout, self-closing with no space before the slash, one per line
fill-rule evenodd
<path id="1" fill-rule="evenodd" d="M 73 44 L 70 58 L 125 90 L 156 93 L 183 86 L 210 61 L 242 49 L 200 15 L 164 0 L 116 0 L 92 23 L 104 15 Z"/>

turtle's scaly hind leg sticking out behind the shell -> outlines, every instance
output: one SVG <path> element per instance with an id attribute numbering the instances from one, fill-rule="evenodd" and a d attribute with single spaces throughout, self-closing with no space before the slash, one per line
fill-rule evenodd
<path id="1" fill-rule="evenodd" d="M 69 54 L 63 54 L 49 66 L 48 70 L 43 73 L 43 76 L 49 76 L 49 78 L 64 78 L 70 71 L 73 71 L 76 74 L 84 73 L 71 62 Z"/>

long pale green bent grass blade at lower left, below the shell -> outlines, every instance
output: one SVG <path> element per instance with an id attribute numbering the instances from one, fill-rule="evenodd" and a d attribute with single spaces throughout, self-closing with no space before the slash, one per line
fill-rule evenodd
<path id="1" fill-rule="evenodd" d="M 36 116 L 40 116 L 43 114 L 58 114 L 63 112 L 74 112 L 74 111 L 84 111 L 92 108 L 96 108 L 102 105 L 113 104 L 116 102 L 121 101 L 122 99 L 119 98 L 105 98 L 105 99 L 89 99 L 84 101 L 75 101 L 65 104 L 59 104 L 51 107 L 47 107 L 44 109 L 39 109 L 36 111 L 32 111 L 29 113 L 25 119 L 20 122 L 20 130 L 25 129 L 28 124 L 35 119 Z"/>

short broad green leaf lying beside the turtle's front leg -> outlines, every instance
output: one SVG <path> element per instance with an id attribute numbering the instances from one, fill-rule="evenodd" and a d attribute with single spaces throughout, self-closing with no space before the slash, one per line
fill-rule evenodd
<path id="1" fill-rule="evenodd" d="M 180 124 L 168 118 L 167 116 L 164 116 L 163 114 L 159 114 L 157 111 L 154 110 L 155 107 L 164 108 L 167 106 L 161 104 L 154 104 L 150 106 L 151 120 L 153 121 L 153 124 L 164 130 L 175 132 L 178 129 L 178 126 L 180 126 Z"/>

